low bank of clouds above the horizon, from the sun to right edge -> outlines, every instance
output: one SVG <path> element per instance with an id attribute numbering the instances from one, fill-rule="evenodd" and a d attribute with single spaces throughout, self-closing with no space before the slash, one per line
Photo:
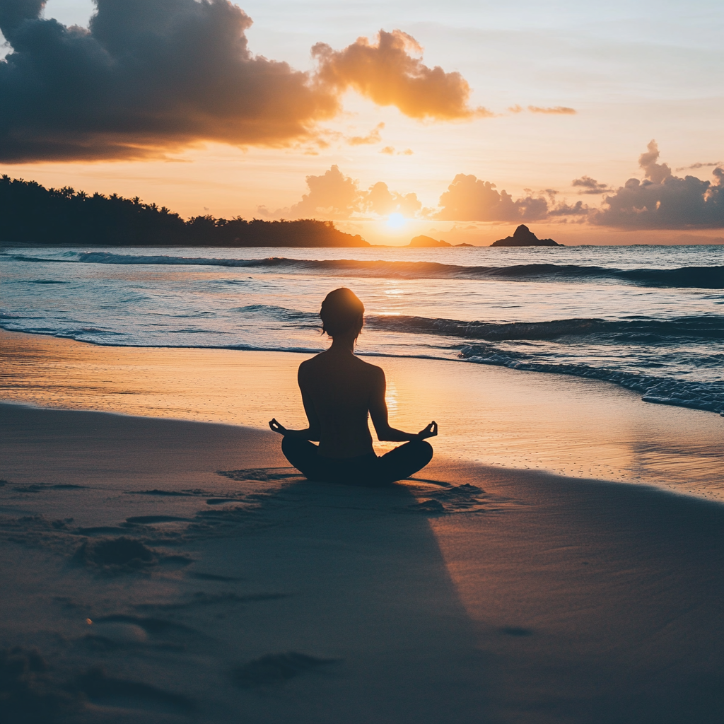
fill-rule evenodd
<path id="1" fill-rule="evenodd" d="M 382 149 L 387 151 L 387 149 Z M 390 147 L 389 152 L 394 152 Z M 668 164 L 660 163 L 659 148 L 652 140 L 639 157 L 644 180 L 629 179 L 618 190 L 590 176 L 573 180 L 578 193 L 604 195 L 600 208 L 583 201 L 556 201 L 559 192 L 546 189 L 514 198 L 494 183 L 473 175 L 458 174 L 439 197 L 438 209 L 424 209 L 415 193 L 397 193 L 379 181 L 364 191 L 358 182 L 342 174 L 337 166 L 321 176 L 308 176 L 309 193 L 290 211 L 298 216 L 350 219 L 359 214 L 387 216 L 393 212 L 407 218 L 449 222 L 589 222 L 625 229 L 686 229 L 724 227 L 724 169 L 713 169 L 714 181 L 694 176 L 676 177 Z M 277 214 L 281 210 L 277 211 Z"/>

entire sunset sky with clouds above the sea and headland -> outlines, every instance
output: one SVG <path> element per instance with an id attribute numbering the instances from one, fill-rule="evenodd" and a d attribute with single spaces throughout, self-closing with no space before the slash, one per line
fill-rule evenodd
<path id="1" fill-rule="evenodd" d="M 724 242 L 720 0 L 0 0 L 0 30 L 11 177 L 371 243 Z"/>

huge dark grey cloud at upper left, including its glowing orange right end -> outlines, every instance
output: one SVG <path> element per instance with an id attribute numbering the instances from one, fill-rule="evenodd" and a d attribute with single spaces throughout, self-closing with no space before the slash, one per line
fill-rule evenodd
<path id="1" fill-rule="evenodd" d="M 472 117 L 458 73 L 380 33 L 317 73 L 251 54 L 251 18 L 227 0 L 96 0 L 89 27 L 41 19 L 43 0 L 0 0 L 0 161 L 132 159 L 203 141 L 288 146 L 315 138 L 355 88 L 412 117 Z"/>

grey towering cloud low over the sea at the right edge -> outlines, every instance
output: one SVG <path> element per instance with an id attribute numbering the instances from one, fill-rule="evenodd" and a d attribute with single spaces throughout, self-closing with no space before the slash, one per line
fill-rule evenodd
<path id="1" fill-rule="evenodd" d="M 639 166 L 645 179 L 629 179 L 592 211 L 593 224 L 630 229 L 686 229 L 724 227 L 724 169 L 713 170 L 714 182 L 694 176 L 679 178 L 667 164 L 657 163 L 655 140 L 642 153 Z"/>

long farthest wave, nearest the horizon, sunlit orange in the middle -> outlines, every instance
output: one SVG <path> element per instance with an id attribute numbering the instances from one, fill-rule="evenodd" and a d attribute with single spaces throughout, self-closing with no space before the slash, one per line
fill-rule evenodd
<path id="1" fill-rule="evenodd" d="M 518 281 L 618 281 L 644 287 L 691 287 L 724 289 L 724 266 L 682 266 L 677 269 L 617 269 L 577 264 L 514 264 L 512 266 L 462 266 L 434 261 L 384 261 L 361 259 L 295 259 L 266 257 L 235 259 L 206 256 L 117 254 L 106 251 L 74 253 L 73 257 L 46 258 L 5 254 L 15 261 L 80 264 L 156 264 L 177 266 L 225 266 L 286 272 L 334 274 L 390 279 L 510 279 Z"/>

